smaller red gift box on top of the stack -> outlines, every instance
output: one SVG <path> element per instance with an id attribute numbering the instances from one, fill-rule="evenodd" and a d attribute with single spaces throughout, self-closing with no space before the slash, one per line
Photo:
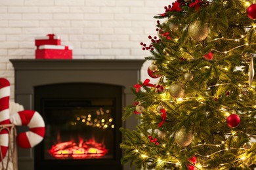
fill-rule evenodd
<path id="1" fill-rule="evenodd" d="M 41 45 L 60 45 L 60 37 L 54 34 L 48 34 L 45 37 L 35 37 L 35 46 Z"/>

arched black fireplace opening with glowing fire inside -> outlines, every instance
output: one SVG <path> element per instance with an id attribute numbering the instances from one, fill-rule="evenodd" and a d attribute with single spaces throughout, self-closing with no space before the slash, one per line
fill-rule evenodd
<path id="1" fill-rule="evenodd" d="M 36 86 L 34 107 L 45 120 L 35 169 L 122 169 L 123 88 L 110 84 Z"/>

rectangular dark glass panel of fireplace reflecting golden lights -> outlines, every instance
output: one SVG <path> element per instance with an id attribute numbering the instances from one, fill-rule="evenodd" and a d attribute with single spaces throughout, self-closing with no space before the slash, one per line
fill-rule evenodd
<path id="1" fill-rule="evenodd" d="M 46 160 L 114 157 L 114 99 L 44 103 Z"/>

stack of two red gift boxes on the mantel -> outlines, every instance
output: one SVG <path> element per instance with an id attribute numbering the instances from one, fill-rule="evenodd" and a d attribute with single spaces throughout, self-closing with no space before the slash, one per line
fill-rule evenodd
<path id="1" fill-rule="evenodd" d="M 61 45 L 60 37 L 48 34 L 35 37 L 36 59 L 72 59 L 72 48 Z"/>

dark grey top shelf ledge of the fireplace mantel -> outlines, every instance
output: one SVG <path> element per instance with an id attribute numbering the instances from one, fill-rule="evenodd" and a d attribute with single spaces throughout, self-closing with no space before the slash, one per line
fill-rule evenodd
<path id="1" fill-rule="evenodd" d="M 17 70 L 66 69 L 140 69 L 144 59 L 10 59 Z"/>

